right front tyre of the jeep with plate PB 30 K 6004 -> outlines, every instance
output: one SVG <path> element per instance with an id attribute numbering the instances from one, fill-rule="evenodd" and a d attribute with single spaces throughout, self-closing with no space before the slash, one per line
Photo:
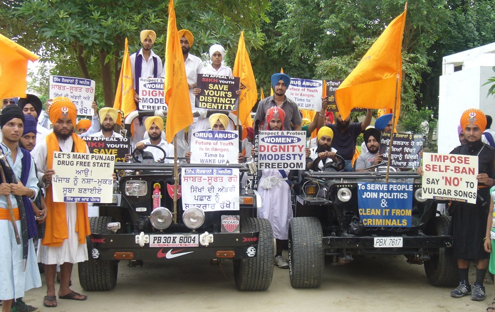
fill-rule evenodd
<path id="1" fill-rule="evenodd" d="M 256 256 L 234 261 L 234 280 L 239 290 L 267 290 L 273 276 L 273 230 L 270 222 L 260 218 L 246 218 L 241 232 L 259 231 Z"/>

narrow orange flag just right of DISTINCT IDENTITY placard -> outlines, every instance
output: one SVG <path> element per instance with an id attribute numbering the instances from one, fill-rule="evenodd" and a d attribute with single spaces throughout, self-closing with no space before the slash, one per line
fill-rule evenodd
<path id="1" fill-rule="evenodd" d="M 237 47 L 236 61 L 232 73 L 241 78 L 241 95 L 239 95 L 239 123 L 244 127 L 252 127 L 251 110 L 258 99 L 256 81 L 252 72 L 251 61 L 244 42 L 244 31 L 241 32 Z"/>

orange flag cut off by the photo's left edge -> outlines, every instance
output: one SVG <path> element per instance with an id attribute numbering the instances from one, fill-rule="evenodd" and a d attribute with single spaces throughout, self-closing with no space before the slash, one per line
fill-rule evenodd
<path id="1" fill-rule="evenodd" d="M 0 98 L 26 97 L 28 60 L 39 57 L 0 34 Z"/>

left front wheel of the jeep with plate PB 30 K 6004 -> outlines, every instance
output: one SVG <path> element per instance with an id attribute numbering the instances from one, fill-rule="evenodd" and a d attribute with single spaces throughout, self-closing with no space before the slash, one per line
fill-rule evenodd
<path id="1" fill-rule="evenodd" d="M 96 234 L 111 234 L 106 223 L 113 222 L 110 217 L 91 217 L 91 232 Z M 91 247 L 91 238 L 86 243 Z M 117 283 L 118 262 L 97 260 L 89 251 L 89 260 L 78 264 L 79 283 L 84 290 L 112 290 Z"/>

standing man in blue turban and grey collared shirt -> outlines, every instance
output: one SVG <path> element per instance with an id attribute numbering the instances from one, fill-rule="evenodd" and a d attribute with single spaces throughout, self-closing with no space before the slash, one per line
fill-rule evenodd
<path id="1" fill-rule="evenodd" d="M 273 95 L 259 101 L 254 121 L 259 120 L 260 129 L 266 128 L 266 125 L 263 127 L 266 111 L 270 107 L 277 106 L 285 111 L 284 130 L 301 130 L 302 119 L 299 108 L 296 102 L 285 95 L 287 88 L 291 85 L 291 77 L 276 73 L 272 75 L 271 83 Z"/>

